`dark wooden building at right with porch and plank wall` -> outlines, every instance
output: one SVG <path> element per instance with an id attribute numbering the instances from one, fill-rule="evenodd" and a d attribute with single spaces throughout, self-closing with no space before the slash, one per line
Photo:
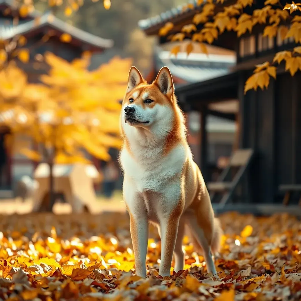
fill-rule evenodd
<path id="1" fill-rule="evenodd" d="M 197 1 L 190 3 L 190 8 L 186 10 L 172 9 L 160 16 L 141 20 L 139 26 L 147 35 L 158 36 L 159 29 L 171 21 L 174 27 L 168 35 L 179 32 L 184 25 L 192 23 L 193 16 L 202 8 Z M 225 1 L 223 5 L 228 3 L 232 4 L 231 1 Z M 254 3 L 251 8 L 246 8 L 248 14 L 263 7 L 263 1 Z M 240 196 L 240 200 L 247 202 L 250 199 L 253 204 L 275 204 L 282 201 L 287 191 L 283 185 L 292 185 L 296 190 L 301 187 L 301 94 L 298 93 L 301 72 L 291 77 L 281 64 L 277 69 L 277 80 L 271 78 L 268 89 L 258 88 L 257 91 L 244 94 L 245 81 L 256 64 L 271 62 L 276 52 L 292 50 L 296 46 L 291 39 L 281 42 L 278 36 L 272 39 L 263 37 L 263 29 L 264 26 L 256 25 L 251 34 L 247 32 L 239 38 L 235 32 L 225 31 L 213 45 L 236 52 L 236 66 L 231 73 L 184 85 L 176 89 L 176 95 L 185 110 L 198 110 L 201 113 L 200 166 L 205 176 L 208 160 L 205 128 L 209 106 L 231 99 L 239 101 L 239 147 L 254 151 L 248 180 L 242 184 L 244 195 Z M 167 37 L 159 37 L 160 44 L 166 42 Z M 223 115 L 225 118 L 233 117 L 232 114 Z M 237 208 L 234 206 L 232 209 Z"/>

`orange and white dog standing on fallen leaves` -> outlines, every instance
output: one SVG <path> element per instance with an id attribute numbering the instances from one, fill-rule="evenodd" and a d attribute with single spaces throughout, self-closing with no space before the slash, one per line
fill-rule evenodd
<path id="1" fill-rule="evenodd" d="M 143 278 L 149 223 L 157 226 L 161 238 L 161 276 L 170 276 L 173 255 L 175 272 L 184 268 L 185 225 L 196 249 L 202 250 L 207 271 L 216 274 L 213 254 L 219 251 L 222 229 L 193 161 L 174 91 L 168 67 L 148 84 L 132 66 L 120 115 L 123 198 L 130 216 L 136 275 Z"/>

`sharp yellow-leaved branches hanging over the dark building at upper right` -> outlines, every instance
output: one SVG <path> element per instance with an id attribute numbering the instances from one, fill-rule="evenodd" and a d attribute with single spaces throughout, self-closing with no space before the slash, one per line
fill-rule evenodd
<path id="1" fill-rule="evenodd" d="M 253 5 L 260 5 L 261 2 L 254 0 L 237 0 L 227 5 L 224 0 L 198 0 L 200 12 L 197 12 L 191 24 L 182 27 L 180 32 L 169 35 L 171 41 L 182 41 L 191 39 L 194 42 L 200 42 L 203 52 L 207 52 L 206 43 L 213 43 L 219 35 L 227 31 L 234 31 L 237 37 L 249 32 L 255 25 L 264 25 L 263 36 L 274 38 L 280 35 L 281 41 L 287 38 L 293 38 L 296 44 L 301 43 L 301 3 L 284 2 L 282 0 L 262 1 L 262 8 L 254 9 L 252 14 L 247 14 L 244 9 Z M 219 4 L 223 4 L 221 7 Z M 218 7 L 219 5 L 219 7 Z M 226 6 L 227 5 L 227 6 Z M 186 5 L 187 8 L 194 9 L 193 4 Z M 218 8 L 218 9 L 217 9 Z M 201 29 L 198 30 L 197 26 Z M 173 29 L 174 24 L 167 22 L 160 28 L 159 35 L 167 36 Z M 176 46 L 171 53 L 177 54 L 180 46 Z M 189 43 L 186 48 L 187 54 L 193 51 L 193 43 Z M 272 62 L 265 62 L 257 65 L 252 76 L 245 83 L 245 93 L 254 88 L 268 87 L 270 77 L 276 79 L 277 65 L 285 61 L 285 70 L 289 70 L 293 76 L 298 70 L 301 70 L 301 46 L 297 45 L 293 51 L 281 51 L 275 54 Z"/>

